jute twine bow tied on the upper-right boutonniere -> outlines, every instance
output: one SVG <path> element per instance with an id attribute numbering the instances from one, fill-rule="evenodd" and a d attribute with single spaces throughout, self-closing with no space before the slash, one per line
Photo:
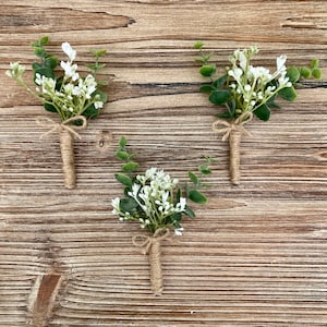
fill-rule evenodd
<path id="1" fill-rule="evenodd" d="M 250 133 L 244 128 L 244 124 L 251 121 L 252 119 L 253 119 L 253 113 L 251 111 L 245 111 L 232 122 L 228 122 L 222 119 L 217 119 L 216 121 L 214 121 L 211 128 L 214 133 L 223 134 L 221 138 L 222 141 L 227 141 L 232 131 L 240 131 L 246 136 L 252 137 L 252 133 Z M 219 125 L 223 125 L 225 128 L 218 128 Z"/>

